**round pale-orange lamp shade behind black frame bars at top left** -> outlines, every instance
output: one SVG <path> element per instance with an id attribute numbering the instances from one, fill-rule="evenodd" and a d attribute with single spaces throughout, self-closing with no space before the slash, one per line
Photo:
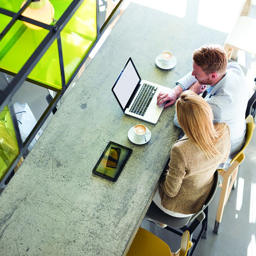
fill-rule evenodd
<path id="1" fill-rule="evenodd" d="M 26 1 L 22 2 L 21 7 L 24 6 L 25 3 Z M 32 1 L 22 15 L 50 25 L 54 18 L 54 8 L 49 0 Z M 25 21 L 24 24 L 32 29 L 42 29 L 41 27 Z"/>

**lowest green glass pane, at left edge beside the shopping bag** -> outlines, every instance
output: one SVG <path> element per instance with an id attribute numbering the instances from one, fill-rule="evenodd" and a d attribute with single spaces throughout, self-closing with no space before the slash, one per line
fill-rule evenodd
<path id="1" fill-rule="evenodd" d="M 11 115 L 6 106 L 0 113 L 0 181 L 19 155 Z"/>

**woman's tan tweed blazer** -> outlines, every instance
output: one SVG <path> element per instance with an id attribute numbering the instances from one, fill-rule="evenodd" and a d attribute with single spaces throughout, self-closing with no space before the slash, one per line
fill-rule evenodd
<path id="1" fill-rule="evenodd" d="M 164 208 L 183 214 L 197 213 L 204 205 L 219 164 L 227 161 L 230 151 L 229 128 L 216 144 L 219 156 L 207 159 L 186 135 L 171 150 L 169 171 L 159 186 Z"/>

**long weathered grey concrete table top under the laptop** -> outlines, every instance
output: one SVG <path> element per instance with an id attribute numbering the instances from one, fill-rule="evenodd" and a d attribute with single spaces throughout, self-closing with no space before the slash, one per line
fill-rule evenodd
<path id="1" fill-rule="evenodd" d="M 131 56 L 142 79 L 173 88 L 195 48 L 224 43 L 188 8 L 179 18 L 130 4 L 0 195 L 0 255 L 126 254 L 180 130 L 174 107 L 156 125 L 124 115 L 111 87 Z M 163 51 L 177 59 L 172 70 L 155 65 Z M 152 132 L 145 145 L 127 137 L 138 123 Z M 116 182 L 92 174 L 110 140 L 133 150 Z"/>

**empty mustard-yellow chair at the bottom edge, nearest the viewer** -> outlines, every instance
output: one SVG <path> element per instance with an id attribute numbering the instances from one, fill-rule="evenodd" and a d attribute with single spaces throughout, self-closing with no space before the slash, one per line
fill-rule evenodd
<path id="1" fill-rule="evenodd" d="M 170 247 L 160 238 L 143 228 L 139 228 L 127 256 L 186 256 L 192 246 L 189 240 L 189 231 L 181 237 L 181 248 L 176 253 L 171 253 Z"/>

